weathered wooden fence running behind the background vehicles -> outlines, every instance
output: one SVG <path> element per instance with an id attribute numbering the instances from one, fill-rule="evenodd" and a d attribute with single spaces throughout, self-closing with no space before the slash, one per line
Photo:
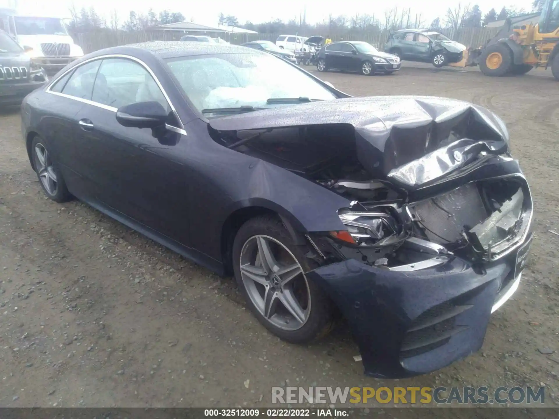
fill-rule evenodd
<path id="1" fill-rule="evenodd" d="M 489 39 L 494 37 L 500 28 L 460 28 L 457 31 L 451 29 L 443 29 L 441 33 L 453 41 L 457 41 L 467 47 L 477 48 Z M 84 53 L 91 53 L 103 48 L 111 46 L 135 44 L 136 42 L 146 41 L 178 41 L 184 35 L 178 31 L 96 31 L 86 32 L 84 34 L 77 34 L 74 36 L 75 42 L 82 47 Z M 243 42 L 250 42 L 255 40 L 267 40 L 275 42 L 280 34 L 241 34 L 241 33 L 228 33 L 223 34 L 219 32 L 207 32 L 207 36 L 221 37 L 222 39 L 230 42 L 231 44 L 243 44 Z M 352 31 L 348 30 L 344 36 L 335 37 L 334 41 L 366 41 L 369 44 L 382 50 L 388 39 L 389 32 L 386 30 L 377 31 Z"/>

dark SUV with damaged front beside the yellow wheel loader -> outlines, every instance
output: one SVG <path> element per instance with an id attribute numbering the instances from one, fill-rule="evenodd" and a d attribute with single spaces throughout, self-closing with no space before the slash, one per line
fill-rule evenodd
<path id="1" fill-rule="evenodd" d="M 384 50 L 402 60 L 432 63 L 439 68 L 461 61 L 466 46 L 448 39 L 439 32 L 404 29 L 389 36 Z"/>

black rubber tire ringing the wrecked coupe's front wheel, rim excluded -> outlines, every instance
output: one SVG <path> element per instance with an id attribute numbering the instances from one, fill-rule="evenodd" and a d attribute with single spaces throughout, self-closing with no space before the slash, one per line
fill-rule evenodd
<path id="1" fill-rule="evenodd" d="M 262 323 L 264 327 L 274 335 L 280 337 L 280 339 L 288 342 L 304 344 L 327 335 L 334 324 L 333 306 L 324 291 L 310 279 L 307 279 L 311 301 L 309 317 L 304 325 L 296 330 L 285 330 L 277 327 L 268 321 L 254 305 L 241 277 L 240 258 L 245 243 L 257 235 L 272 237 L 272 239 L 281 242 L 281 244 L 295 256 L 303 272 L 308 272 L 318 267 L 318 265 L 315 266 L 316 263 L 305 257 L 305 253 L 309 251 L 306 246 L 297 246 L 293 244 L 290 234 L 279 218 L 274 216 L 259 216 L 245 222 L 235 236 L 232 253 L 235 279 L 250 311 L 252 311 L 254 316 L 258 318 L 258 321 Z"/>

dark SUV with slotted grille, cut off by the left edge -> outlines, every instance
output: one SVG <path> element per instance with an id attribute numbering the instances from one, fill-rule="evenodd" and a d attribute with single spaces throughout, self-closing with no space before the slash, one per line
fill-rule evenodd
<path id="1" fill-rule="evenodd" d="M 0 106 L 20 104 L 45 84 L 44 70 L 6 32 L 0 30 Z"/>

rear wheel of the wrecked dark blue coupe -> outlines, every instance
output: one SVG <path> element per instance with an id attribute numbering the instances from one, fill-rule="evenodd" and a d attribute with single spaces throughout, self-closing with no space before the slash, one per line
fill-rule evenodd
<path id="1" fill-rule="evenodd" d="M 45 164 L 42 167 L 41 159 L 39 158 L 39 150 L 44 150 L 42 160 Z M 39 184 L 45 195 L 54 202 L 69 201 L 70 193 L 58 169 L 58 165 L 56 165 L 56 159 L 49 153 L 48 145 L 39 136 L 36 136 L 31 142 L 31 158 L 33 161 L 33 169 L 37 174 Z M 49 188 L 46 185 L 49 185 Z"/>

